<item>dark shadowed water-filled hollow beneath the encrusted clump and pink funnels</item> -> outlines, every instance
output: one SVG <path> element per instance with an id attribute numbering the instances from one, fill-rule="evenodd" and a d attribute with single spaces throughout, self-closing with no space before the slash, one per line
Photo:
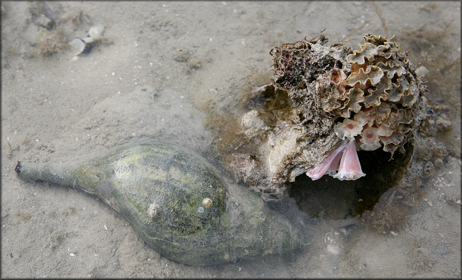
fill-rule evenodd
<path id="1" fill-rule="evenodd" d="M 406 152 L 390 153 L 358 151 L 362 172 L 366 176 L 354 181 L 340 181 L 329 175 L 312 181 L 302 174 L 295 182 L 288 183 L 288 194 L 294 198 L 300 211 L 313 218 L 344 219 L 373 211 L 388 189 L 395 186 L 405 174 L 406 166 L 412 158 L 412 145 L 405 145 Z"/>

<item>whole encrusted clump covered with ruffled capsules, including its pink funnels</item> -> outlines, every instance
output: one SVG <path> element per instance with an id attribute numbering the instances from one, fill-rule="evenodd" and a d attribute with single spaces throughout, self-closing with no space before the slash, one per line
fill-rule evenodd
<path id="1" fill-rule="evenodd" d="M 232 173 L 269 199 L 306 173 L 356 180 L 357 150 L 405 153 L 425 116 L 425 85 L 396 43 L 364 35 L 352 51 L 321 33 L 275 46 L 273 83 L 254 89 Z M 268 196 L 266 196 L 268 198 Z"/>

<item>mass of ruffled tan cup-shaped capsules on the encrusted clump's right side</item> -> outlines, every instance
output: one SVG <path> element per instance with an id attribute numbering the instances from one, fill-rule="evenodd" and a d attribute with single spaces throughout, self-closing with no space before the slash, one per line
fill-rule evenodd
<path id="1" fill-rule="evenodd" d="M 334 118 L 345 118 L 334 125 L 339 138 L 351 138 L 348 127 L 353 126 L 357 135 L 361 126 L 362 150 L 373 151 L 383 146 L 384 151 L 393 155 L 407 142 L 413 131 L 411 128 L 419 123 L 415 111 L 423 85 L 406 53 L 395 43 L 372 34 L 365 34 L 364 39 L 366 43 L 346 57 L 351 72 L 343 83 L 338 80 L 332 80 L 331 84 L 322 82 L 329 78 L 329 72 L 318 77 L 317 90 L 324 96 L 321 108 Z"/>

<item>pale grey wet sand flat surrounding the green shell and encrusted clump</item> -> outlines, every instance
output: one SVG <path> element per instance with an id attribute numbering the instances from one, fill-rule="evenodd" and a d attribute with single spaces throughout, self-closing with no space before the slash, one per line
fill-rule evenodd
<path id="1" fill-rule="evenodd" d="M 459 2 L 48 5 L 56 22 L 50 30 L 50 21 L 40 15 L 46 9 L 38 3 L 2 2 L 4 277 L 460 278 L 460 69 L 455 77 L 442 75 L 449 82 L 430 75 L 428 83 L 430 99 L 458 108 L 445 139 L 452 152 L 444 169 L 424 181 L 419 199 L 406 201 L 407 217 L 397 214 L 402 225 L 386 232 L 362 223 L 352 211 L 354 187 L 342 191 L 330 180 L 305 192 L 302 202 L 286 198 L 272 205 L 306 230 L 310 246 L 191 267 L 150 249 L 101 200 L 22 181 L 13 172 L 18 160 L 59 162 L 141 139 L 174 141 L 214 158 L 210 151 L 217 135 L 204 128 L 203 119 L 211 113 L 241 116 L 242 95 L 268 81 L 271 47 L 312 38 L 322 28 L 328 44 L 355 39 L 349 41 L 353 48 L 364 33 L 388 33 L 415 52 L 411 61 L 429 55 L 444 65 L 441 54 L 425 46 L 437 38 L 431 34 L 445 18 L 454 18 L 449 27 L 454 34 L 443 47 L 447 61 L 460 59 Z M 107 40 L 73 59 L 66 43 L 86 36 L 95 24 L 106 27 Z M 409 35 L 421 27 L 428 31 L 419 33 L 427 34 L 427 41 Z M 189 62 L 182 57 L 185 50 Z M 200 67 L 194 67 L 198 61 Z M 383 192 L 383 200 L 393 197 Z"/>

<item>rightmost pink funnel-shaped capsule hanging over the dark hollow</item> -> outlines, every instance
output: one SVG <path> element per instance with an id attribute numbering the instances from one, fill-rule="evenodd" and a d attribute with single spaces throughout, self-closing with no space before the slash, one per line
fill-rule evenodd
<path id="1" fill-rule="evenodd" d="M 362 176 L 365 176 L 365 174 L 362 173 L 358 153 L 356 153 L 356 141 L 350 140 L 347 146 L 344 147 L 338 173 L 332 177 L 343 181 L 356 180 Z"/>

